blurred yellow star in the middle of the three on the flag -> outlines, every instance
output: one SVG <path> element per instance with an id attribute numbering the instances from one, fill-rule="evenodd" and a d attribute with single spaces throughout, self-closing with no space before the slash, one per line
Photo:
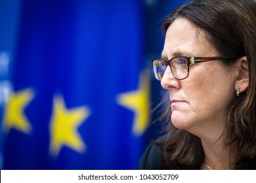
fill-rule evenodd
<path id="1" fill-rule="evenodd" d="M 77 152 L 85 150 L 85 143 L 77 128 L 89 115 L 89 108 L 68 109 L 62 97 L 54 97 L 53 116 L 50 122 L 50 153 L 53 156 L 58 156 L 63 146 L 68 146 Z"/>

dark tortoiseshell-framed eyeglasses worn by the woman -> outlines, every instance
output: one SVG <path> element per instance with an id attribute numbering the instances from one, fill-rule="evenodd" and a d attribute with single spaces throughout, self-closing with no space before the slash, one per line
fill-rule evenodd
<path id="1" fill-rule="evenodd" d="M 217 59 L 235 59 L 228 57 L 189 57 L 189 56 L 176 56 L 169 60 L 163 58 L 157 58 L 152 60 L 152 68 L 157 80 L 161 80 L 165 73 L 167 66 L 171 68 L 171 73 L 177 78 L 177 80 L 184 80 L 189 75 L 189 67 L 194 63 L 200 63 L 203 61 L 211 61 Z"/>

